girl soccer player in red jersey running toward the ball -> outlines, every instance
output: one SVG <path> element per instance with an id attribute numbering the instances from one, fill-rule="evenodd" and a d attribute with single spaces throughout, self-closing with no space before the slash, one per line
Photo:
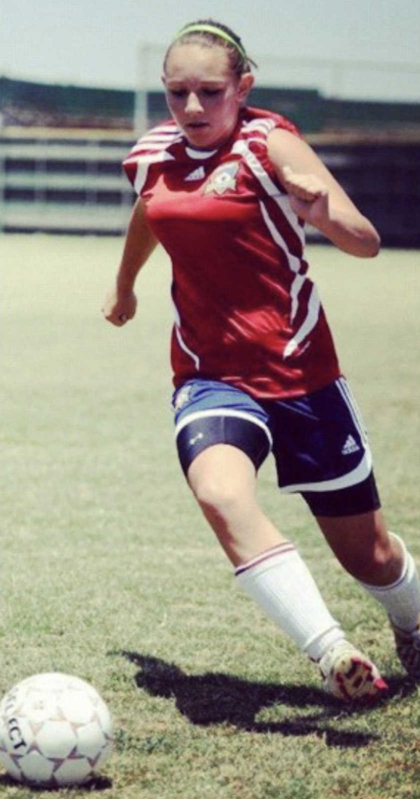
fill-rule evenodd
<path id="1" fill-rule="evenodd" d="M 137 273 L 160 241 L 172 260 L 173 407 L 188 485 L 240 586 L 319 665 L 327 689 L 374 697 L 386 683 L 256 503 L 256 475 L 272 451 L 280 490 L 303 496 L 420 677 L 418 574 L 386 528 L 363 420 L 307 275 L 304 224 L 354 256 L 375 256 L 380 242 L 291 122 L 246 105 L 251 65 L 240 38 L 212 20 L 169 46 L 172 120 L 125 161 L 138 199 L 103 310 L 117 326 L 133 318 Z"/>

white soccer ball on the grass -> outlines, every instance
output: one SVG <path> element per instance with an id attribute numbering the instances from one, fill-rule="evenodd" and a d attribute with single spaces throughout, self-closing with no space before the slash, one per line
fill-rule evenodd
<path id="1" fill-rule="evenodd" d="M 0 703 L 0 761 L 30 785 L 81 785 L 109 756 L 113 730 L 97 690 L 69 674 L 34 674 Z"/>

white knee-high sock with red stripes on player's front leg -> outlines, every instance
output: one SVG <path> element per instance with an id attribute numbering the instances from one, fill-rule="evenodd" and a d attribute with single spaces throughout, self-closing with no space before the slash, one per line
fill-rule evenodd
<path id="1" fill-rule="evenodd" d="M 262 552 L 235 570 L 240 586 L 259 603 L 299 649 L 318 661 L 343 640 L 315 580 L 291 543 Z"/>

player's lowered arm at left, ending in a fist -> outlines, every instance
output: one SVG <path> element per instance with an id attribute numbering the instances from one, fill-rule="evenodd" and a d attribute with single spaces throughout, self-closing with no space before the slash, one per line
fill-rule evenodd
<path id="1" fill-rule="evenodd" d="M 137 299 L 133 288 L 138 272 L 157 245 L 146 222 L 145 206 L 139 197 L 133 206 L 125 238 L 116 284 L 105 298 L 102 312 L 109 322 L 121 328 L 136 313 Z"/>

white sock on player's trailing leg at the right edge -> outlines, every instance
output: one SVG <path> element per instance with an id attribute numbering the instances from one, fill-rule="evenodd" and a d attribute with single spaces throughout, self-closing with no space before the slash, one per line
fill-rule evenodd
<path id="1" fill-rule="evenodd" d="M 398 535 L 390 533 L 397 539 L 404 553 L 404 564 L 401 577 L 390 586 L 370 586 L 360 582 L 365 590 L 385 608 L 394 624 L 402 630 L 412 632 L 418 626 L 420 617 L 420 580 L 418 570 L 406 545 Z"/>

